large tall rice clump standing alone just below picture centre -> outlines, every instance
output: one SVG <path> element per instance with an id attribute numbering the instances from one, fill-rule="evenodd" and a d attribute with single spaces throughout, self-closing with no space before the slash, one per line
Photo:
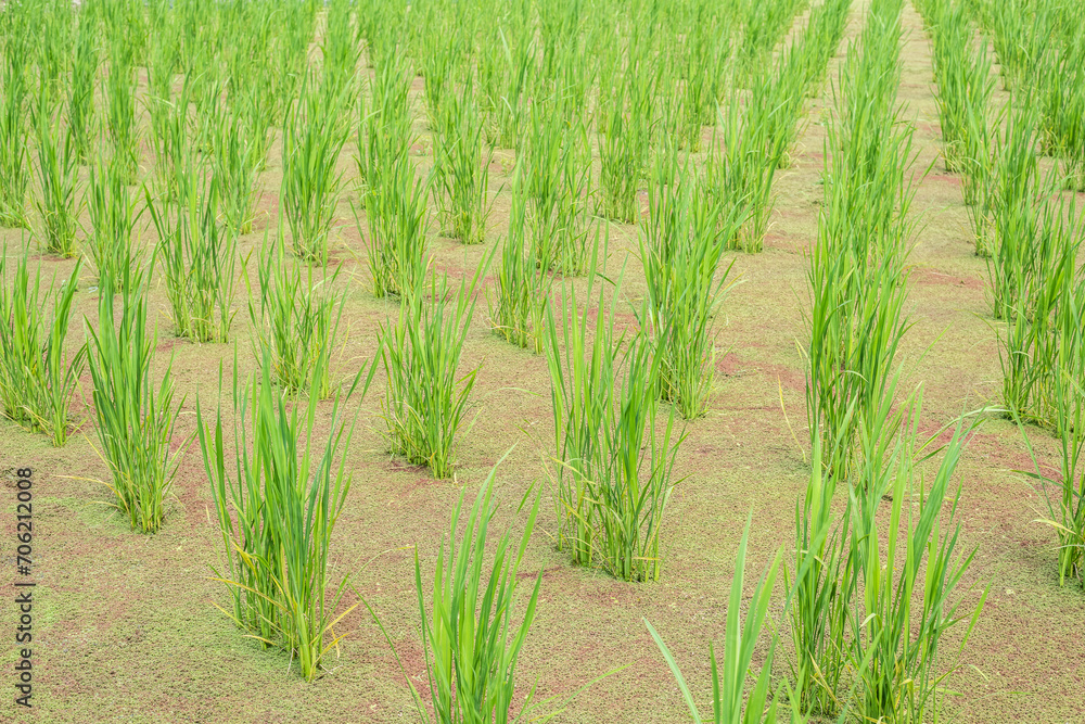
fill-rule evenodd
<path id="1" fill-rule="evenodd" d="M 589 274 L 595 270 L 593 261 Z M 589 299 L 591 293 L 589 285 Z M 590 305 L 578 316 L 575 295 L 563 294 L 560 313 L 569 322 L 559 346 L 547 307 L 558 548 L 625 581 L 659 581 L 660 525 L 685 435 L 675 431 L 673 409 L 660 420 L 654 344 L 640 333 L 614 336 L 614 310 L 603 318 L 602 290 L 597 309 L 592 339 Z"/>

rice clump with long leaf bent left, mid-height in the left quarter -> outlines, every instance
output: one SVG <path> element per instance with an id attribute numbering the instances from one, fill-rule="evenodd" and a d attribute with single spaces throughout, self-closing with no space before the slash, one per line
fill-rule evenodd
<path id="1" fill-rule="evenodd" d="M 178 336 L 226 342 L 237 312 L 233 287 L 237 232 L 218 224 L 219 181 L 190 165 L 178 174 L 178 206 L 171 212 L 144 190 L 158 232 L 157 254 L 166 274 L 166 296 Z"/>

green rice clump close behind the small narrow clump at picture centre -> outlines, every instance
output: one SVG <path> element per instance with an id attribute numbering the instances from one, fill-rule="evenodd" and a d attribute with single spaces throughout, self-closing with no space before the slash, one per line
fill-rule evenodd
<path id="1" fill-rule="evenodd" d="M 528 243 L 538 265 L 566 276 L 584 272 L 597 242 L 589 219 L 590 152 L 583 122 L 533 105 L 522 154 Z"/>

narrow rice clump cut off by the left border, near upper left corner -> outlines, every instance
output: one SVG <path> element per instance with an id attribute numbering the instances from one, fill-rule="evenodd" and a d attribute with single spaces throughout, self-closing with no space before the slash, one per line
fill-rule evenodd
<path id="1" fill-rule="evenodd" d="M 4 58 L 0 68 L 0 226 L 25 228 L 30 185 L 26 112 L 30 63 L 29 37 L 22 12 L 4 12 Z"/>

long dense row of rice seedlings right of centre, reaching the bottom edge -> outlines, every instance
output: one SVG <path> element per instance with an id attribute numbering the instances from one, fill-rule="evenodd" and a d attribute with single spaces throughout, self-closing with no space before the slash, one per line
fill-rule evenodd
<path id="1" fill-rule="evenodd" d="M 896 106 L 902 4 L 871 4 L 826 141 L 809 256 L 813 467 L 787 590 L 803 712 L 921 722 L 940 717 L 942 682 L 958 665 L 952 658 L 945 668 L 942 636 L 963 622 L 963 647 L 983 597 L 973 607 L 958 590 L 973 555 L 958 550 L 954 523 L 969 428 L 956 423 L 924 481 L 923 461 L 940 450 L 935 437 L 919 437 L 921 388 L 897 399 L 914 162 L 911 127 Z"/>

